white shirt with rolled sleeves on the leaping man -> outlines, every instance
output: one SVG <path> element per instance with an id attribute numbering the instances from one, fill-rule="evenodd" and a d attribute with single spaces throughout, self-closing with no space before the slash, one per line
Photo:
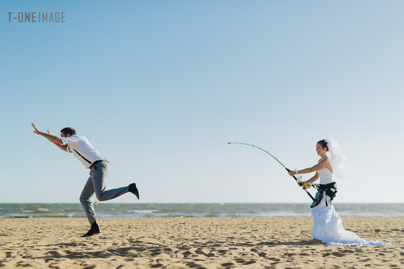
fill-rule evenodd
<path id="1" fill-rule="evenodd" d="M 68 145 L 67 152 L 73 153 L 87 169 L 96 160 L 105 159 L 84 136 L 72 135 L 70 137 L 61 137 L 60 139 L 62 139 L 62 145 Z M 76 151 L 91 163 L 88 163 Z"/>

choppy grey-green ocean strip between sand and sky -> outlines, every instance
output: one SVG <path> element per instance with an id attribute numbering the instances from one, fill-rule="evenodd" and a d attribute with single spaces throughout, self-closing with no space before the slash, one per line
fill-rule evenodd
<path id="1" fill-rule="evenodd" d="M 404 203 L 333 203 L 341 217 L 404 217 Z M 310 217 L 301 203 L 102 203 L 98 218 Z M 0 203 L 0 218 L 84 218 L 80 203 Z"/>

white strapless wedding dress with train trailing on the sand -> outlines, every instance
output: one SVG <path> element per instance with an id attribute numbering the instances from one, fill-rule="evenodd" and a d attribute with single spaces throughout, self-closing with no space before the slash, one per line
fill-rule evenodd
<path id="1" fill-rule="evenodd" d="M 317 171 L 320 175 L 320 184 L 334 182 L 333 173 L 327 168 Z M 334 189 L 331 189 L 335 191 Z M 326 201 L 328 206 L 326 205 Z M 380 241 L 366 241 L 357 234 L 344 230 L 341 218 L 335 211 L 331 198 L 323 192 L 323 199 L 313 207 L 313 234 L 312 238 L 322 240 L 328 245 L 382 245 L 391 246 L 391 243 Z"/>

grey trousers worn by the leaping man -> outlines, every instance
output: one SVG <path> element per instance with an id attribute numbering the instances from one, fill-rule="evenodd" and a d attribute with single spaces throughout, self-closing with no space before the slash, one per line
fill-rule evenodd
<path id="1" fill-rule="evenodd" d="M 129 191 L 129 187 L 122 187 L 112 190 L 106 190 L 106 181 L 109 172 L 108 163 L 98 163 L 94 165 L 90 170 L 90 177 L 84 186 L 80 195 L 80 202 L 83 205 L 85 214 L 90 224 L 97 221 L 95 217 L 94 207 L 91 203 L 91 196 L 97 197 L 98 201 L 107 201 L 121 196 Z"/>

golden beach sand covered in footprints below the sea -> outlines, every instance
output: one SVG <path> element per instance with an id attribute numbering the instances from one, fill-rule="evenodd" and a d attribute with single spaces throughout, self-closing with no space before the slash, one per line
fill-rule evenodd
<path id="1" fill-rule="evenodd" d="M 310 241 L 311 217 L 1 218 L 0 267 L 404 268 L 404 217 L 342 218 L 344 228 L 392 246 Z"/>

